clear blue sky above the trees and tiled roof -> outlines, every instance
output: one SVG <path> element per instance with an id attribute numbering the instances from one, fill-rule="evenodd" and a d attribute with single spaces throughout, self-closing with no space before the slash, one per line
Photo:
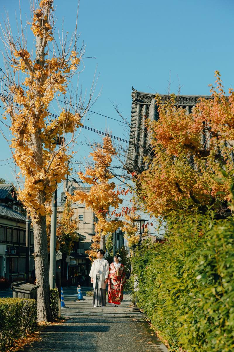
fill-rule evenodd
<path id="1" fill-rule="evenodd" d="M 64 27 L 72 33 L 78 1 L 57 0 L 54 4 L 56 26 L 61 26 L 64 17 Z M 4 2 L 4 6 L 12 31 L 16 32 L 15 11 L 19 15 L 19 2 Z M 5 16 L 2 3 L 1 12 Z M 23 22 L 25 13 L 30 14 L 27 0 L 21 1 Z M 143 92 L 164 94 L 170 73 L 171 92 L 178 90 L 178 75 L 181 94 L 208 95 L 208 84 L 214 83 L 214 71 L 219 70 L 228 92 L 234 83 L 233 15 L 232 0 L 80 0 L 80 44 L 86 45 L 85 57 L 95 57 L 85 59 L 85 71 L 80 77 L 83 89 L 90 89 L 96 65 L 100 73 L 96 94 L 101 90 L 101 95 L 92 110 L 119 119 L 110 102 L 116 101 L 130 121 L 132 86 Z M 96 114 L 87 118 L 87 126 L 103 131 L 109 127 L 115 136 L 128 139 L 119 122 Z M 99 136 L 82 130 L 79 138 L 85 142 Z M 0 148 L 1 159 L 11 156 L 2 138 Z M 76 158 L 83 159 L 88 153 L 88 146 L 79 146 Z M 1 161 L 0 165 L 5 163 Z M 1 166 L 0 170 L 0 177 L 14 180 L 10 165 Z"/>

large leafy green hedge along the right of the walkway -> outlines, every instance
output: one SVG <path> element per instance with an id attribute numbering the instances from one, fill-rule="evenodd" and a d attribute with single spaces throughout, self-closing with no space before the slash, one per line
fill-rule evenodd
<path id="1" fill-rule="evenodd" d="M 139 306 L 173 348 L 234 351 L 234 221 L 178 218 L 133 259 Z"/>

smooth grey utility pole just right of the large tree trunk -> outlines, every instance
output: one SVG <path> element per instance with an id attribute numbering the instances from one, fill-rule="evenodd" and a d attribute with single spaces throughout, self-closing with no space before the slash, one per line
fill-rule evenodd
<path id="1" fill-rule="evenodd" d="M 51 205 L 51 241 L 49 254 L 49 288 L 55 288 L 56 276 L 56 227 L 57 227 L 57 183 Z"/>

